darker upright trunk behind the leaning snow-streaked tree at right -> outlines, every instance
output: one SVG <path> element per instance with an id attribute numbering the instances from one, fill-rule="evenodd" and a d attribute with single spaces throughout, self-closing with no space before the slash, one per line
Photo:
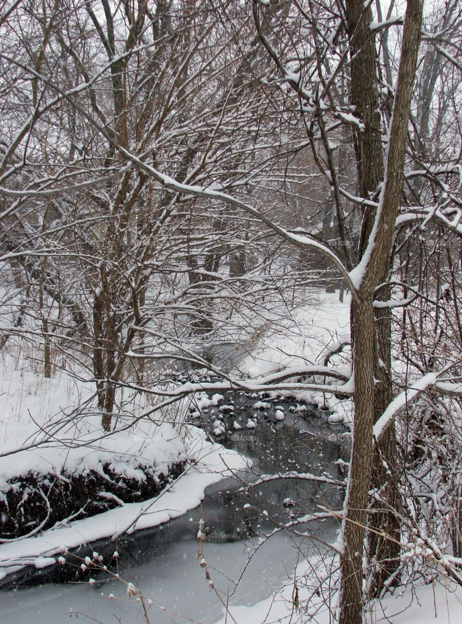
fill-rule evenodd
<path id="1" fill-rule="evenodd" d="M 369 27 L 372 21 L 372 10 L 370 6 L 365 7 L 361 0 L 349 0 L 347 19 L 352 57 L 351 100 L 364 124 L 363 130 L 357 130 L 354 135 L 359 193 L 365 198 L 377 198 L 378 188 L 383 180 L 383 155 L 378 110 L 377 50 L 373 32 Z M 369 207 L 363 213 L 359 258 L 362 258 L 372 232 L 375 212 Z M 385 289 L 381 295 L 383 300 L 389 299 L 390 289 Z M 352 308 L 351 321 L 354 330 L 354 308 Z M 392 400 L 392 317 L 390 310 L 387 308 L 376 310 L 374 325 L 375 337 L 373 339 L 377 345 L 373 363 L 375 379 L 377 379 L 373 394 L 375 421 Z M 352 331 L 352 343 L 354 344 L 354 331 Z M 380 366 L 378 365 L 379 358 L 382 362 Z M 391 427 L 386 439 L 380 442 L 379 447 L 373 453 L 372 487 L 381 490 L 387 509 L 379 504 L 376 509 L 372 510 L 368 522 L 374 529 L 386 530 L 393 539 L 379 539 L 377 534 L 369 534 L 368 560 L 375 562 L 373 568 L 369 570 L 369 573 L 372 573 L 370 579 L 372 595 L 380 594 L 385 581 L 395 572 L 398 563 L 400 525 L 396 514 L 393 513 L 398 501 L 397 485 L 388 479 L 387 470 L 383 467 L 384 461 L 390 467 L 395 466 L 395 459 L 395 429 Z"/>

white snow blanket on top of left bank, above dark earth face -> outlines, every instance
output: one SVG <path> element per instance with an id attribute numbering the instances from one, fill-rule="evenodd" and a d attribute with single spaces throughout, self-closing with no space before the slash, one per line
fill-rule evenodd
<path id="1" fill-rule="evenodd" d="M 78 475 L 113 464 L 120 476 L 140 479 L 138 466 L 163 466 L 184 452 L 170 424 L 139 421 L 103 435 L 100 415 L 85 402 L 90 384 L 67 373 L 41 374 L 3 367 L 0 381 L 0 490 L 8 480 L 36 474 Z M 14 456 L 14 461 L 11 461 Z"/>

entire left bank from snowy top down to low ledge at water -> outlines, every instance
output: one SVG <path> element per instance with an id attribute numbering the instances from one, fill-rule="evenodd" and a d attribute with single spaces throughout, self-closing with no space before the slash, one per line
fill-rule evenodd
<path id="1" fill-rule="evenodd" d="M 102 431 L 100 414 L 92 409 L 94 384 L 65 371 L 46 379 L 22 355 L 3 354 L 0 528 L 7 533 L 16 523 L 21 537 L 12 534 L 0 540 L 0 578 L 26 565 L 52 565 L 61 547 L 75 548 L 178 517 L 200 504 L 208 485 L 244 467 L 239 454 L 208 442 L 203 431 L 188 427 L 180 434 L 168 421 L 178 418 L 181 404 L 160 419 L 137 421 L 149 407 L 149 398 L 133 393 L 122 394 L 124 398 L 125 410 L 115 419 L 118 431 L 108 435 Z M 180 477 L 175 466 L 185 466 Z M 172 474 L 177 478 L 159 493 Z M 66 489 L 71 482 L 75 501 Z M 87 513 L 96 513 L 89 482 L 97 486 L 95 498 L 107 502 L 103 513 Z M 59 484 L 65 486 L 62 513 L 57 519 L 53 510 L 52 522 L 41 526 L 46 513 L 34 507 L 35 490 L 47 494 Z M 117 487 L 124 490 L 123 497 Z M 146 495 L 150 491 L 154 494 Z M 73 514 L 69 510 L 79 496 L 83 509 L 77 506 Z M 38 498 L 51 506 L 51 497 Z M 15 505 L 9 505 L 13 499 Z M 57 506 L 59 493 L 55 499 Z"/>

